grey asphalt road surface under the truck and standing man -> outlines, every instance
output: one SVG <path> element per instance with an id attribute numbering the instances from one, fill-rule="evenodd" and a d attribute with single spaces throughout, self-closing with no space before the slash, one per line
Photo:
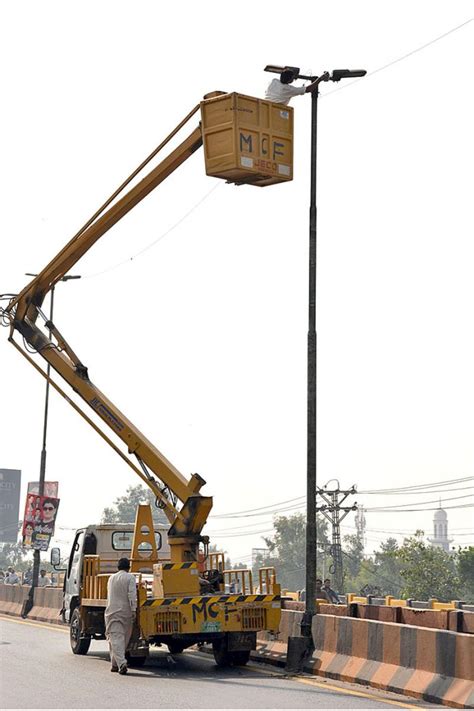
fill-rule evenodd
<path id="1" fill-rule="evenodd" d="M 426 702 L 316 677 L 288 677 L 262 664 L 218 669 L 212 656 L 171 657 L 153 648 L 146 666 L 111 674 L 106 642 L 74 656 L 68 629 L 0 617 L 0 686 L 4 709 L 427 708 Z"/>

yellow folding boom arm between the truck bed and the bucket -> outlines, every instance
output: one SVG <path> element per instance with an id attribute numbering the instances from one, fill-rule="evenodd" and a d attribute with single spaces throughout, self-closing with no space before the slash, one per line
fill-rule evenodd
<path id="1" fill-rule="evenodd" d="M 193 109 L 180 126 L 170 134 L 162 146 L 198 108 L 199 106 Z M 47 377 L 46 373 L 37 366 L 25 349 L 14 340 L 15 331 L 19 332 L 26 343 L 49 363 L 51 368 L 80 395 L 115 435 L 122 440 L 127 447 L 128 454 L 134 455 L 138 460 L 139 466 L 137 467 L 136 460 L 132 460 L 131 457 L 123 453 L 81 408 L 69 400 L 69 397 L 61 388 L 50 379 L 56 390 L 66 397 L 73 407 L 99 431 L 102 437 L 126 459 L 161 501 L 161 505 L 172 524 L 169 538 L 171 558 L 175 562 L 195 560 L 199 542 L 206 540 L 200 536 L 200 533 L 211 510 L 212 498 L 199 494 L 201 487 L 205 484 L 204 479 L 198 474 L 193 474 L 189 480 L 186 479 L 92 383 L 86 366 L 81 363 L 56 326 L 49 321 L 46 322 L 46 327 L 49 330 L 48 336 L 39 328 L 36 321 L 38 315 L 42 315 L 41 305 L 48 291 L 66 275 L 102 235 L 184 163 L 201 145 L 202 134 L 201 128 L 198 126 L 145 178 L 118 199 L 112 207 L 109 207 L 100 216 L 94 216 L 96 219 L 92 218 L 86 227 L 70 240 L 22 292 L 11 300 L 5 310 L 11 320 L 9 340 Z M 176 499 L 179 499 L 182 504 L 179 510 Z"/>

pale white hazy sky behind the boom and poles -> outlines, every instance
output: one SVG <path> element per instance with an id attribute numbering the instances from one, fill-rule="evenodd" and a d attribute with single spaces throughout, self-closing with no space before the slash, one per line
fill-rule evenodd
<path id="1" fill-rule="evenodd" d="M 205 93 L 263 97 L 268 63 L 364 68 L 319 101 L 318 484 L 472 477 L 472 3 L 223 7 L 3 6 L 0 293 L 20 291 Z M 55 323 L 92 381 L 184 475 L 204 477 L 204 533 L 234 562 L 265 545 L 272 512 L 304 507 L 310 104 L 292 101 L 291 183 L 227 185 L 198 151 L 55 294 Z M 23 501 L 45 383 L 0 336 L 0 467 L 21 469 Z M 56 393 L 47 480 L 59 481 L 64 550 L 139 483 Z M 440 497 L 453 545 L 474 544 L 472 480 L 436 492 L 352 497 L 426 509 L 367 512 L 368 550 L 431 533 Z M 354 532 L 352 513 L 344 524 Z"/>

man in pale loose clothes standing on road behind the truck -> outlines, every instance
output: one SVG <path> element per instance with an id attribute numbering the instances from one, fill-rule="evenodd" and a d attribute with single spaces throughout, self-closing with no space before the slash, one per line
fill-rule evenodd
<path id="1" fill-rule="evenodd" d="M 107 584 L 107 607 L 105 608 L 105 636 L 109 640 L 110 671 L 126 674 L 125 659 L 137 610 L 137 585 L 135 576 L 129 573 L 130 561 L 120 558 L 118 571 L 110 576 Z"/>

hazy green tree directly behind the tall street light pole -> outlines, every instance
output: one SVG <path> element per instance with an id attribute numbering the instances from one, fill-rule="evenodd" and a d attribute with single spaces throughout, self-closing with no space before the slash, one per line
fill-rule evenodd
<path id="1" fill-rule="evenodd" d="M 264 538 L 269 555 L 262 563 L 265 566 L 275 566 L 277 580 L 283 588 L 301 590 L 305 586 L 306 519 L 303 514 L 277 516 L 273 521 L 273 528 L 273 536 Z M 317 540 L 321 548 L 329 545 L 327 522 L 319 517 Z"/>

